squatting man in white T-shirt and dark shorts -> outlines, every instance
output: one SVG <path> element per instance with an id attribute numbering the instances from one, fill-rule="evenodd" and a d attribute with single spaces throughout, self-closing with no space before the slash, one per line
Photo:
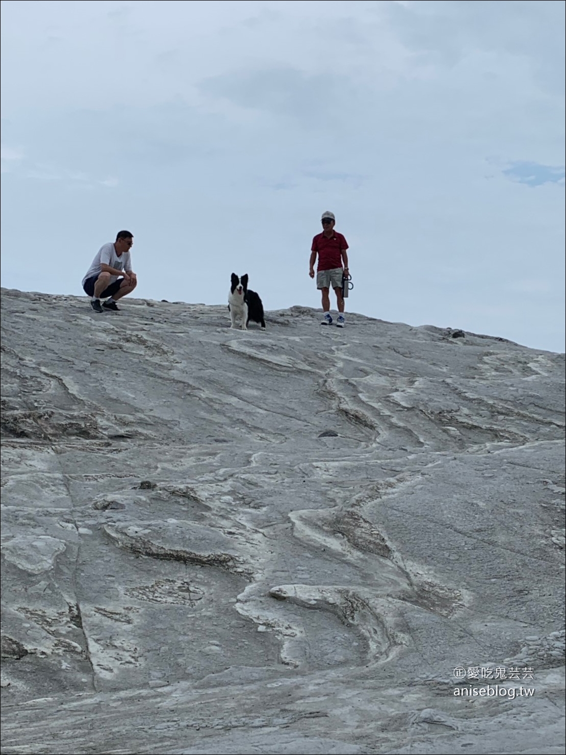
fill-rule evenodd
<path id="1" fill-rule="evenodd" d="M 137 277 L 131 269 L 130 259 L 133 243 L 134 236 L 129 231 L 119 231 L 115 242 L 101 246 L 92 260 L 88 273 L 82 279 L 82 288 L 91 297 L 91 307 L 95 312 L 117 312 L 118 299 L 131 294 L 136 288 Z M 100 298 L 106 297 L 109 299 L 100 304 Z"/>

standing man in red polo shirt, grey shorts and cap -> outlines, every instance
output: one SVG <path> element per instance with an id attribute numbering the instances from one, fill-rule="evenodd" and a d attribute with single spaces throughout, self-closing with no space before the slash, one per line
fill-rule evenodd
<path id="1" fill-rule="evenodd" d="M 349 275 L 348 254 L 346 253 L 348 244 L 342 234 L 334 230 L 334 222 L 334 214 L 328 210 L 322 213 L 322 233 L 318 233 L 318 236 L 312 239 L 309 276 L 315 277 L 315 260 L 318 254 L 316 288 L 322 291 L 322 310 L 325 313 L 321 325 L 332 325 L 333 322 L 330 313 L 330 296 L 328 295 L 332 286 L 338 307 L 336 325 L 337 328 L 343 328 L 346 320 L 344 319 L 342 276 Z M 342 269 L 342 263 L 344 269 Z"/>

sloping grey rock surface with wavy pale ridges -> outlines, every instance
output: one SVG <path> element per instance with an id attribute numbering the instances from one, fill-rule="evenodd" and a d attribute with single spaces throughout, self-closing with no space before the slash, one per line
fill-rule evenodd
<path id="1" fill-rule="evenodd" d="M 564 355 L 121 306 L 2 291 L 2 751 L 563 752 Z"/>

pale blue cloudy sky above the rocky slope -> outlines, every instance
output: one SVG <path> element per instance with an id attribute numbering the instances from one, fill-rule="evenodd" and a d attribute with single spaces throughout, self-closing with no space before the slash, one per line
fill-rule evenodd
<path id="1" fill-rule="evenodd" d="M 2 2 L 6 288 L 320 307 L 331 210 L 346 310 L 563 352 L 564 162 L 564 2 Z"/>

